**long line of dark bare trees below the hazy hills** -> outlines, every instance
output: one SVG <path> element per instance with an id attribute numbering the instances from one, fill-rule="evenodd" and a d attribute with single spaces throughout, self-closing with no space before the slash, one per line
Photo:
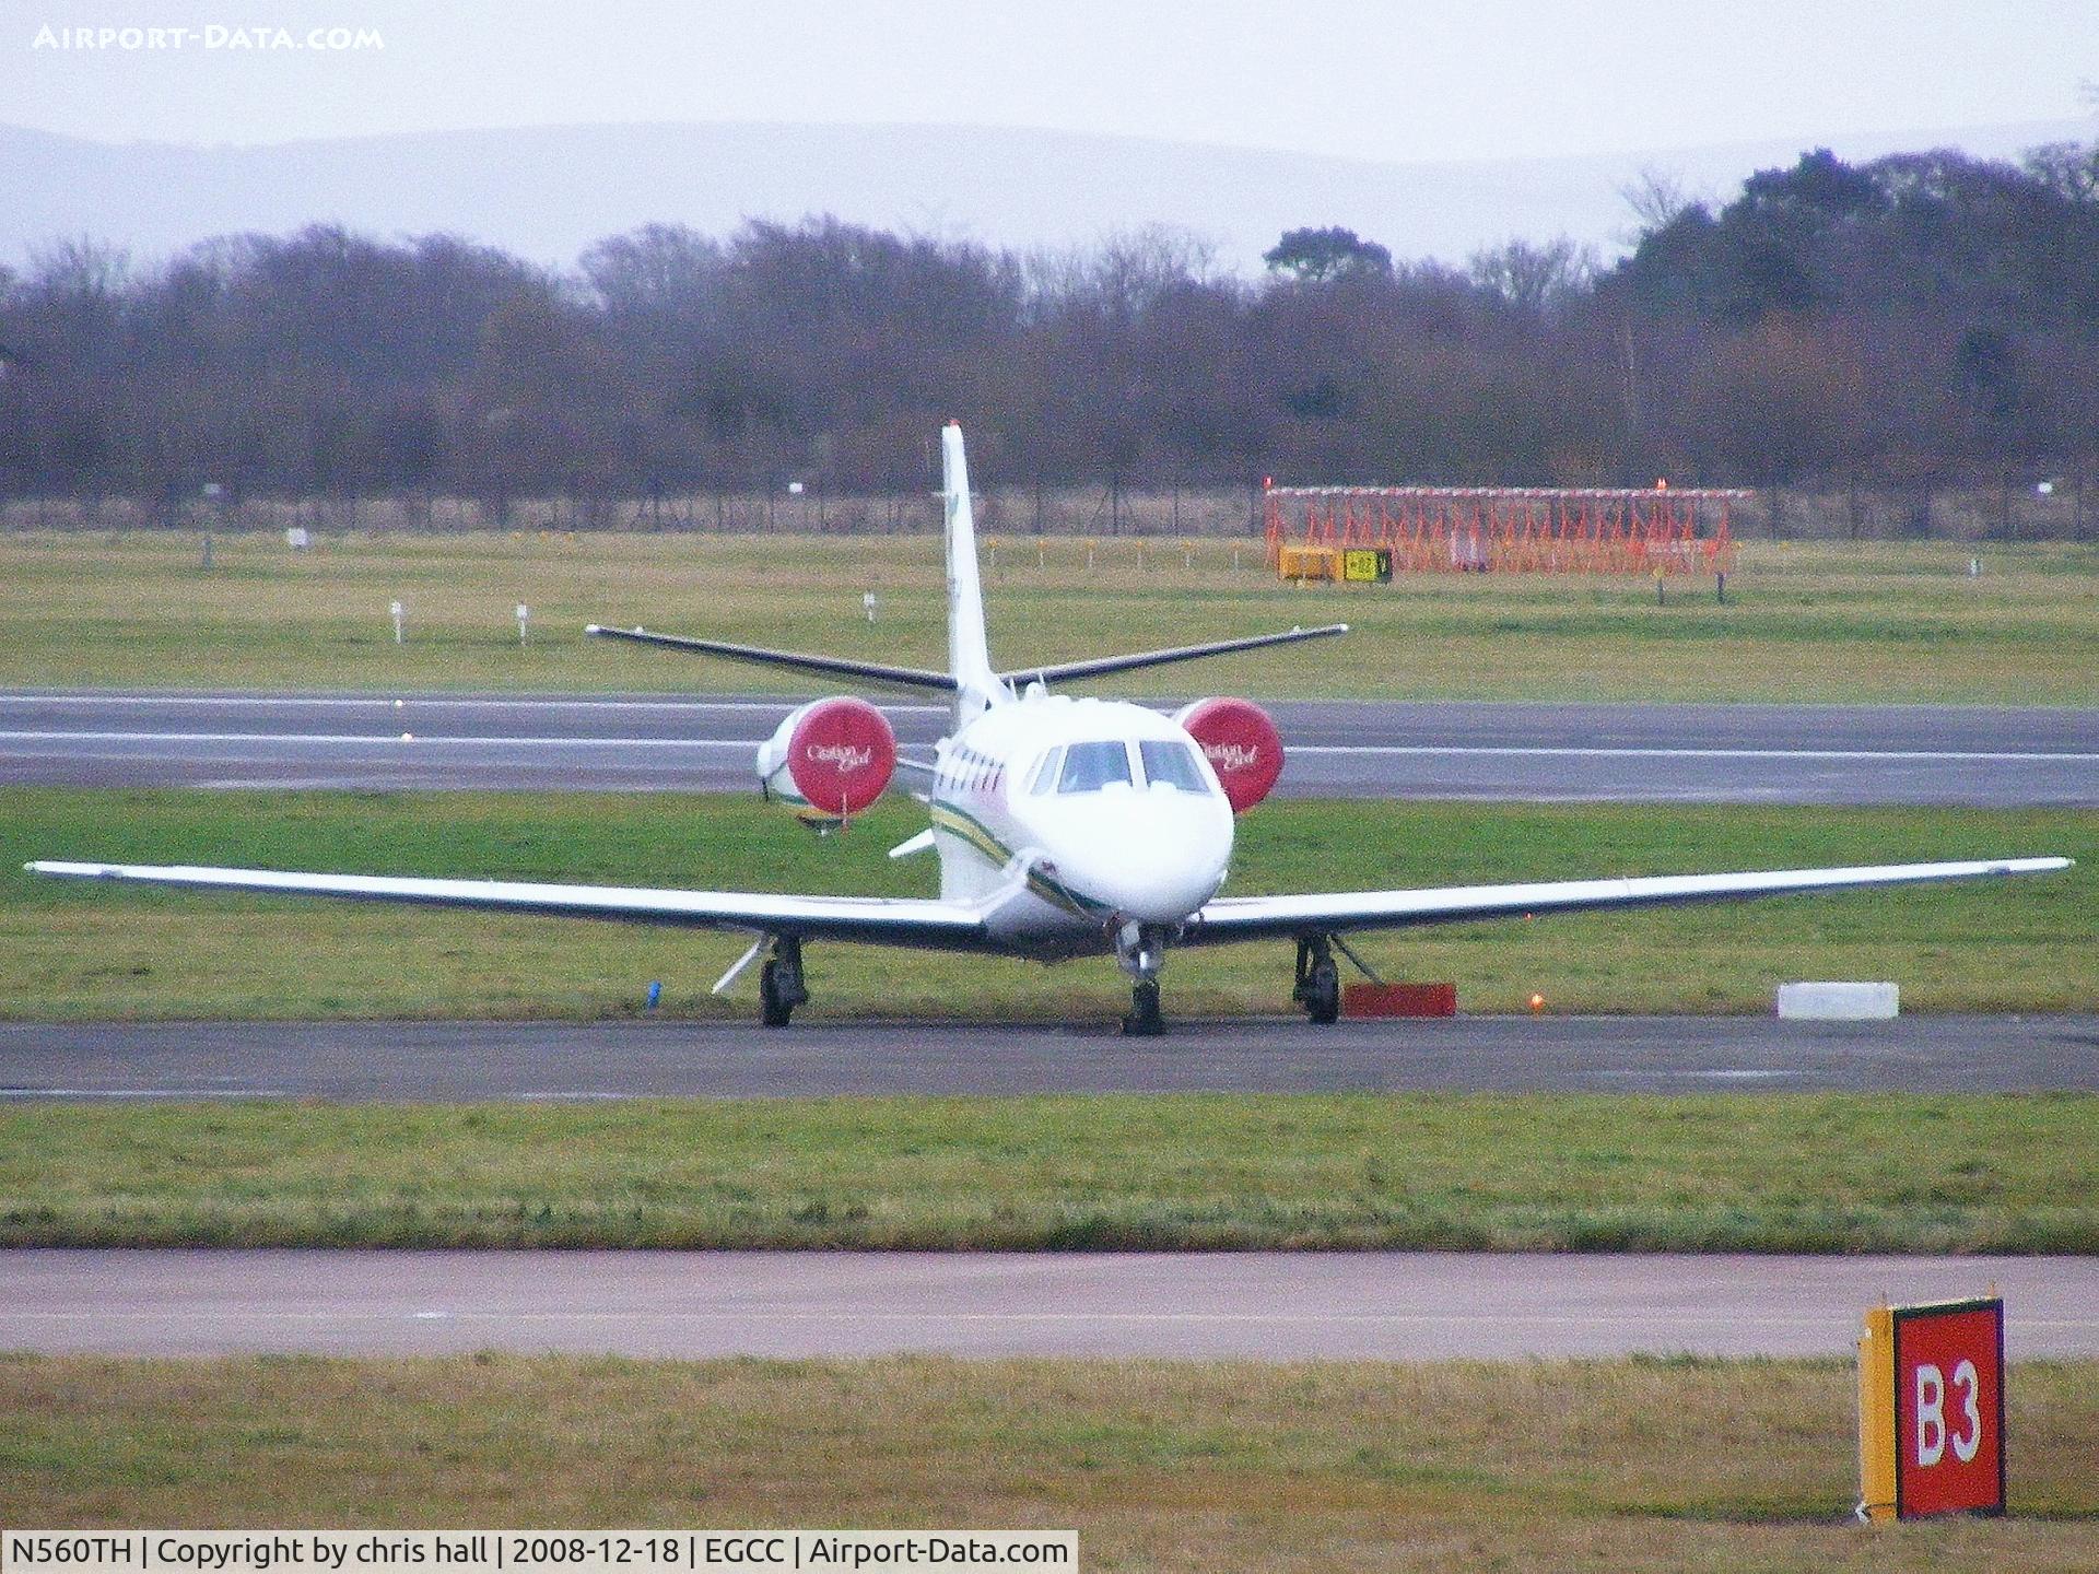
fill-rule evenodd
<path id="1" fill-rule="evenodd" d="M 838 218 L 651 225 L 544 269 L 449 235 L 239 235 L 0 269 L 0 491 L 924 491 L 1102 478 L 1931 487 L 2099 468 L 2099 143 L 1828 151 L 1631 252 L 1467 264 L 1291 231 L 1014 254 Z"/>

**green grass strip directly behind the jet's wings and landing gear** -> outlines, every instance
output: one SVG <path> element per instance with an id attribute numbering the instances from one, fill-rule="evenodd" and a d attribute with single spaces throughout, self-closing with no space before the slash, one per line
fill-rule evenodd
<path id="1" fill-rule="evenodd" d="M 663 980 L 670 1014 L 743 1016 L 707 986 L 724 934 L 80 886 L 29 858 L 472 873 L 932 894 L 919 829 L 884 802 L 817 839 L 756 797 L 0 789 L 0 1018 L 607 1018 Z M 1763 1012 L 1788 978 L 1893 978 L 1906 1009 L 2099 1009 L 2099 814 L 1853 808 L 1272 802 L 1241 823 L 1230 890 L 2068 854 L 2061 875 L 1933 890 L 1471 923 L 1371 936 L 1392 978 L 1450 978 L 1467 1012 Z M 1098 1018 L 1112 961 L 1039 967 L 810 946 L 810 1016 Z M 1280 1012 L 1287 944 L 1188 951 L 1169 1014 Z"/>

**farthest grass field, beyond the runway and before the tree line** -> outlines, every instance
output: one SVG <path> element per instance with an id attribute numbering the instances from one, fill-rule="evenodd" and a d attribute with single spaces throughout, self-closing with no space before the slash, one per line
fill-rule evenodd
<path id="1" fill-rule="evenodd" d="M 1345 619 L 1341 646 L 1201 678 L 1261 697 L 2099 703 L 2099 548 L 1746 544 L 1711 581 L 1429 575 L 1278 583 L 1259 541 L 1012 537 L 991 562 L 1014 663 Z M 938 665 L 930 535 L 0 535 L 0 686 L 743 688 L 764 669 L 586 644 L 588 621 Z M 882 598 L 873 625 L 861 594 Z M 388 602 L 409 609 L 395 646 Z M 533 609 L 521 646 L 512 609 Z M 1102 686 L 1104 690 L 1112 684 Z"/>

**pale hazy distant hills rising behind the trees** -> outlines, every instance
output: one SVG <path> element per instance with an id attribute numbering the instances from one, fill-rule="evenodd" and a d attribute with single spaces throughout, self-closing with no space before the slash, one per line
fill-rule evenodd
<path id="1" fill-rule="evenodd" d="M 1249 126 L 1249 134 L 1257 134 Z M 1826 139 L 1849 159 L 1925 147 L 2013 155 L 2091 136 L 2084 122 Z M 537 126 L 262 147 L 109 145 L 0 126 L 0 258 L 97 235 L 141 256 L 237 231 L 338 220 L 376 235 L 447 231 L 542 262 L 651 220 L 724 233 L 743 218 L 833 212 L 995 246 L 1094 243 L 1165 222 L 1259 271 L 1297 225 L 1348 225 L 1396 256 L 1461 260 L 1522 235 L 1606 252 L 1631 229 L 1641 168 L 1694 195 L 1801 147 L 1759 143 L 1578 159 L 1375 164 L 991 126 Z"/>

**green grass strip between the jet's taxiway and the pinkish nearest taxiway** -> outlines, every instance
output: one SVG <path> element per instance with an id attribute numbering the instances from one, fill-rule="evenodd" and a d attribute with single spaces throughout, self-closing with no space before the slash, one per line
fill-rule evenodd
<path id="1" fill-rule="evenodd" d="M 0 1245 L 2099 1251 L 2099 1098 L 0 1108 Z"/>

